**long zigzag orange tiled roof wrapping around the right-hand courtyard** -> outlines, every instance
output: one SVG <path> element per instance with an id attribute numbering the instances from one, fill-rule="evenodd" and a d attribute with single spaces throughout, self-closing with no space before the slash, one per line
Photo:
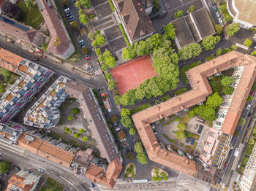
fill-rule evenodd
<path id="1" fill-rule="evenodd" d="M 159 147 L 151 123 L 206 101 L 206 96 L 212 93 L 207 77 L 236 66 L 244 66 L 244 72 L 221 129 L 224 133 L 233 135 L 256 76 L 256 58 L 236 51 L 229 52 L 187 71 L 192 90 L 132 115 L 151 160 L 186 174 L 193 175 L 197 172 L 195 161 L 178 156 L 173 152 L 167 152 Z"/>

